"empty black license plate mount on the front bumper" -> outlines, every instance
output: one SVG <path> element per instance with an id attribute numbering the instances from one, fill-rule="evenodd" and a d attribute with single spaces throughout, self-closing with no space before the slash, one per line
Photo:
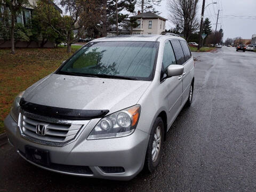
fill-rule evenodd
<path id="1" fill-rule="evenodd" d="M 26 158 L 39 165 L 49 166 L 50 165 L 50 156 L 49 151 L 37 149 L 35 147 L 26 146 Z"/>

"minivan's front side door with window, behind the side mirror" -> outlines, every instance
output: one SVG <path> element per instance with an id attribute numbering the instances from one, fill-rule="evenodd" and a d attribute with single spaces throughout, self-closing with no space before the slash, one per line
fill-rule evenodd
<path id="1" fill-rule="evenodd" d="M 162 74 L 166 75 L 167 67 L 170 65 L 177 65 L 175 60 L 175 55 L 173 52 L 172 45 L 170 41 L 166 41 L 164 45 L 163 61 L 162 61 Z M 179 113 L 182 101 L 182 75 L 166 78 L 162 83 L 165 86 L 164 97 L 168 101 L 169 113 L 168 127 L 174 121 L 175 117 Z"/>

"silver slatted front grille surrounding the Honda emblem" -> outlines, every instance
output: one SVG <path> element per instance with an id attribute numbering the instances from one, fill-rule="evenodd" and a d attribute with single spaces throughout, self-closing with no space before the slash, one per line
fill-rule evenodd
<path id="1" fill-rule="evenodd" d="M 46 142 L 67 142 L 73 139 L 83 126 L 83 124 L 62 124 L 61 121 L 58 123 L 46 122 L 25 115 L 21 115 L 20 118 L 20 128 L 23 134 Z M 44 135 L 36 133 L 37 125 L 44 125 Z"/>

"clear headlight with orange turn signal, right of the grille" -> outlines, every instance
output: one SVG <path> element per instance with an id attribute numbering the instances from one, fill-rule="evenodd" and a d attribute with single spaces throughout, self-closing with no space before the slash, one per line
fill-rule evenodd
<path id="1" fill-rule="evenodd" d="M 140 117 L 140 105 L 135 105 L 102 118 L 87 140 L 118 138 L 130 135 Z"/>

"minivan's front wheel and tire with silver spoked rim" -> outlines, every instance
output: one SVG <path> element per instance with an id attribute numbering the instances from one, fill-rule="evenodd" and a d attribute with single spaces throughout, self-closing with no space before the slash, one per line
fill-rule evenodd
<path id="1" fill-rule="evenodd" d="M 156 142 L 157 140 L 159 141 Z M 151 133 L 150 133 L 150 138 L 149 138 L 147 153 L 145 158 L 144 168 L 149 173 L 153 173 L 156 170 L 157 165 L 161 161 L 162 154 L 163 154 L 163 144 L 164 144 L 163 142 L 164 142 L 164 122 L 161 117 L 157 117 L 153 125 L 153 129 L 151 130 Z M 153 148 L 155 151 L 154 153 L 155 155 L 153 154 Z M 157 148 L 158 148 L 158 151 L 157 151 Z"/>

